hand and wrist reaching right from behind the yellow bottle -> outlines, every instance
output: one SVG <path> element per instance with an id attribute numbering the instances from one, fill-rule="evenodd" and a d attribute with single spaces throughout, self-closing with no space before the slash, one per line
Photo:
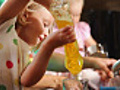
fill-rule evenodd
<path id="1" fill-rule="evenodd" d="M 100 72 L 103 76 L 106 74 L 107 77 L 113 77 L 111 67 L 117 60 L 110 58 L 84 57 L 84 61 L 85 67 L 103 70 L 105 72 L 104 74 Z"/>

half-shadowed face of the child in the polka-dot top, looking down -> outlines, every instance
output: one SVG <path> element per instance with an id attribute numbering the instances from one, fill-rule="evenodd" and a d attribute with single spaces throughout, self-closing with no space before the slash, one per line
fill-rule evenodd
<path id="1" fill-rule="evenodd" d="M 48 30 L 53 24 L 54 18 L 47 10 L 39 9 L 29 13 L 28 23 L 22 30 L 22 39 L 29 45 L 36 45 L 41 41 L 41 35 L 48 35 Z M 21 36 L 21 35 L 19 35 Z"/>

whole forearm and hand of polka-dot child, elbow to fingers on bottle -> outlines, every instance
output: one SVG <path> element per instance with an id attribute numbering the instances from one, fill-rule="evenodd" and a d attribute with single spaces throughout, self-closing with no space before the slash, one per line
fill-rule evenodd
<path id="1" fill-rule="evenodd" d="M 55 48 L 76 40 L 74 30 L 66 27 L 57 32 L 51 33 L 43 43 L 35 56 L 33 62 L 26 68 L 21 76 L 21 84 L 32 86 L 36 84 L 46 71 L 50 56 Z"/>

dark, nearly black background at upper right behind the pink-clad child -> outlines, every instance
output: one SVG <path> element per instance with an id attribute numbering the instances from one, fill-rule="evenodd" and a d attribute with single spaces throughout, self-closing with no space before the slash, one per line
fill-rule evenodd
<path id="1" fill-rule="evenodd" d="M 82 20 L 110 58 L 120 58 L 120 0 L 85 0 Z"/>

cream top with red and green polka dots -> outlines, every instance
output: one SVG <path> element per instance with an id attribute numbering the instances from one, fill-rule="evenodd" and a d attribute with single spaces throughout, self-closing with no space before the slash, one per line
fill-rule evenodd
<path id="1" fill-rule="evenodd" d="M 0 26 L 0 90 L 21 90 L 20 74 L 30 60 L 30 47 L 18 37 L 15 21 Z"/>

